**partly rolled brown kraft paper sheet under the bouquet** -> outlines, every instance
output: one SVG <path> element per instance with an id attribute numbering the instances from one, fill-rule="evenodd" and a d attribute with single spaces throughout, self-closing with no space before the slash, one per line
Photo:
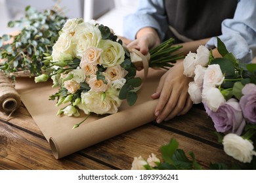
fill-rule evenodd
<path id="1" fill-rule="evenodd" d="M 116 114 L 108 116 L 91 114 L 76 129 L 72 127 L 84 120 L 86 115 L 80 112 L 79 117 L 56 116 L 58 112 L 58 108 L 55 107 L 56 101 L 49 101 L 49 95 L 54 94 L 58 89 L 51 87 L 51 81 L 35 84 L 33 78 L 17 78 L 16 90 L 49 142 L 54 157 L 59 159 L 152 122 L 156 118 L 154 109 L 158 100 L 151 99 L 150 95 L 155 92 L 164 71 L 150 69 L 149 73 L 150 75 L 142 82 L 139 97 L 133 107 L 129 107 L 126 101 L 123 101 Z M 142 72 L 138 73 L 141 78 L 143 75 Z M 61 105 L 60 108 L 64 106 Z"/>

